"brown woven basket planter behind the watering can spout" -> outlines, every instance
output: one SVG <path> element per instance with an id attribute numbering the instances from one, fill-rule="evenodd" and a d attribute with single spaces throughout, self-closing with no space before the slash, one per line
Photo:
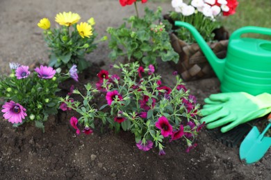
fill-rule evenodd
<path id="1" fill-rule="evenodd" d="M 227 54 L 228 42 L 228 40 L 221 40 L 219 42 L 208 43 L 208 45 L 217 57 L 224 58 Z M 187 44 L 176 37 L 174 33 L 170 34 L 170 43 L 174 51 L 179 54 L 179 62 L 177 64 L 170 62 L 170 64 L 178 71 L 184 81 L 215 76 L 211 65 L 208 63 L 197 43 Z"/>

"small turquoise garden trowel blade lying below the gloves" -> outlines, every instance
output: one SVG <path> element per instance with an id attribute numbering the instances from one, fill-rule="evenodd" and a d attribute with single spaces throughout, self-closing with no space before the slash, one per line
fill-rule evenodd
<path id="1" fill-rule="evenodd" d="M 269 124 L 260 134 L 256 126 L 252 127 L 249 134 L 240 145 L 240 159 L 246 163 L 256 163 L 268 151 L 271 146 L 271 137 L 264 136 L 271 127 L 271 114 L 268 116 Z"/>

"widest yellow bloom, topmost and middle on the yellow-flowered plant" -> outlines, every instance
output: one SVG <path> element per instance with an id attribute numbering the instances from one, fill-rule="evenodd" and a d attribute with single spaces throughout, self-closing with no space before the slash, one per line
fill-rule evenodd
<path id="1" fill-rule="evenodd" d="M 58 13 L 56 15 L 56 22 L 63 26 L 71 26 L 72 24 L 76 24 L 81 19 L 79 14 L 72 12 L 63 12 Z"/>

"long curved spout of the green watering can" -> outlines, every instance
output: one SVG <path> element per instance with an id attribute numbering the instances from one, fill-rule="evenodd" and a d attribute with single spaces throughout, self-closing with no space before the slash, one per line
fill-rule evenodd
<path id="1" fill-rule="evenodd" d="M 202 35 L 199 34 L 197 29 L 192 26 L 191 24 L 188 24 L 183 21 L 175 21 L 175 26 L 183 26 L 185 28 L 188 28 L 190 32 L 192 33 L 193 37 L 195 37 L 197 44 L 199 44 L 199 47 L 202 49 L 202 52 L 206 56 L 206 59 L 211 64 L 213 71 L 215 71 L 215 74 L 217 75 L 217 78 L 222 81 L 222 76 L 224 73 L 224 64 L 225 60 L 219 59 L 215 53 L 211 50 L 211 48 L 208 46 L 208 44 L 205 42 Z"/>

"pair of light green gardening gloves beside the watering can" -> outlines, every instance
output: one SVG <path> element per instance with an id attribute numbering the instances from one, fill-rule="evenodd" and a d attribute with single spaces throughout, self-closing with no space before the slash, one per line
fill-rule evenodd
<path id="1" fill-rule="evenodd" d="M 260 118 L 271 112 L 271 94 L 252 96 L 245 92 L 217 93 L 204 100 L 201 123 L 208 129 L 221 127 L 228 132 L 249 120 Z"/>

